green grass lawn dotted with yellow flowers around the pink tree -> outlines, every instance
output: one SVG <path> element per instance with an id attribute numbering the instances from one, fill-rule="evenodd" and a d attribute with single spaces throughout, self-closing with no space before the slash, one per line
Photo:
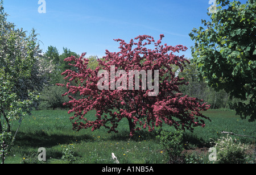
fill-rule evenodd
<path id="1" fill-rule="evenodd" d="M 205 128 L 195 128 L 193 133 L 185 133 L 188 148 L 209 148 L 213 140 L 225 136 L 221 134 L 222 131 L 256 137 L 255 122 L 241 120 L 234 111 L 208 110 L 204 114 L 212 122 L 207 121 Z M 88 115 L 88 118 L 93 118 L 93 111 Z M 37 158 L 40 147 L 46 148 L 46 163 L 67 163 L 61 157 L 63 149 L 69 144 L 75 147 L 75 163 L 113 163 L 112 153 L 120 163 L 125 164 L 163 164 L 168 161 L 168 156 L 156 140 L 159 128 L 151 133 L 137 132 L 129 139 L 128 122 L 122 120 L 118 126 L 118 134 L 108 134 L 105 128 L 94 132 L 90 129 L 76 132 L 72 130 L 70 116 L 65 110 L 33 111 L 31 116 L 23 120 L 5 163 L 39 163 Z M 164 126 L 163 130 L 172 131 L 174 128 Z M 238 136 L 236 138 L 247 144 L 255 140 Z"/>

